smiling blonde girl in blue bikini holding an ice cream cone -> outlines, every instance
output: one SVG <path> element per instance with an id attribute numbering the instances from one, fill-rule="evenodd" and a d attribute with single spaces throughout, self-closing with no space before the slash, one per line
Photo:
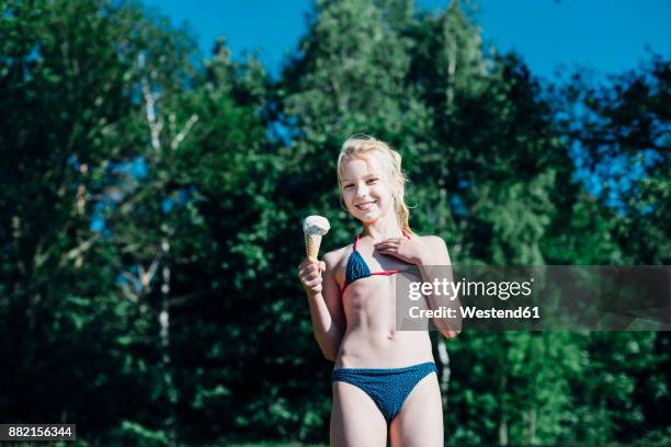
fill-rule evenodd
<path id="1" fill-rule="evenodd" d="M 395 329 L 395 278 L 410 265 L 451 265 L 445 242 L 416 236 L 403 202 L 401 157 L 385 142 L 353 137 L 338 157 L 341 198 L 363 225 L 351 245 L 305 260 L 298 277 L 315 336 L 336 362 L 332 446 L 443 446 L 443 410 L 427 331 Z M 450 339 L 458 334 L 435 321 Z M 452 323 L 454 325 L 454 323 Z"/>

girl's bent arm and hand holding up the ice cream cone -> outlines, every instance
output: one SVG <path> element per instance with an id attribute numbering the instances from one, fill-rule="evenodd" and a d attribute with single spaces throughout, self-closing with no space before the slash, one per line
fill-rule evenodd
<path id="1" fill-rule="evenodd" d="M 312 278 L 311 283 L 304 282 L 304 277 L 302 277 L 302 282 L 304 282 L 310 307 L 315 339 L 323 356 L 331 362 L 336 362 L 345 328 L 340 288 L 333 275 L 338 264 L 338 253 L 327 253 L 323 260 L 325 262 L 318 265 L 317 270 L 312 270 L 312 276 L 315 274 L 317 276 Z M 309 268 L 309 261 L 306 260 L 306 262 Z M 306 262 L 300 265 L 303 266 Z M 307 278 L 312 276 L 307 276 Z M 306 287 L 306 284 L 311 285 L 311 287 Z"/>

